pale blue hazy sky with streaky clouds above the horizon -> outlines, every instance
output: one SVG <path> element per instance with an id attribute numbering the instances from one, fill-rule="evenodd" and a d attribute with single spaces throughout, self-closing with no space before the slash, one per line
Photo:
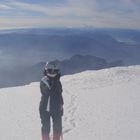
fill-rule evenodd
<path id="1" fill-rule="evenodd" d="M 0 0 L 0 28 L 140 29 L 140 0 Z"/>

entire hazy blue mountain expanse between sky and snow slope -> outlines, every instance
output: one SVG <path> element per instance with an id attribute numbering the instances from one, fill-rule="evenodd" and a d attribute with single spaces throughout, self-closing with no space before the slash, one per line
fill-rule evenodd
<path id="1" fill-rule="evenodd" d="M 44 61 L 50 60 L 58 61 L 62 74 L 138 65 L 139 36 L 139 30 L 124 29 L 0 31 L 0 87 L 23 85 L 40 79 Z"/>

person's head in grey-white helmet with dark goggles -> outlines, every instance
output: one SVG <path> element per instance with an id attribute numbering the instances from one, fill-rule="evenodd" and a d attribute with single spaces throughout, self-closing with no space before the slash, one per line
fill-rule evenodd
<path id="1" fill-rule="evenodd" d="M 55 61 L 47 62 L 45 65 L 45 74 L 49 77 L 56 77 L 60 74 L 58 64 Z"/>

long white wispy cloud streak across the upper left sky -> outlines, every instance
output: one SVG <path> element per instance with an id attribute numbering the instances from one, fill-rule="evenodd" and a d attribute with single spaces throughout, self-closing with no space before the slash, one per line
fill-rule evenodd
<path id="1" fill-rule="evenodd" d="M 23 2 L 12 2 L 9 3 L 10 6 L 22 9 L 29 10 L 32 12 L 40 12 L 46 16 L 88 16 L 89 10 L 85 8 L 83 4 L 72 3 L 71 1 L 67 4 L 55 4 L 55 5 L 47 5 L 47 4 L 31 4 L 31 3 L 23 3 Z"/>

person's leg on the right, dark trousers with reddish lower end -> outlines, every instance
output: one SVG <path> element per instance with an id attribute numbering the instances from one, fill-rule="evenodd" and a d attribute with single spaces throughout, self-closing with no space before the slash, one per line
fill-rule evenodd
<path id="1" fill-rule="evenodd" d="M 53 120 L 53 140 L 60 140 L 62 134 L 62 117 L 61 115 L 52 115 Z"/>

